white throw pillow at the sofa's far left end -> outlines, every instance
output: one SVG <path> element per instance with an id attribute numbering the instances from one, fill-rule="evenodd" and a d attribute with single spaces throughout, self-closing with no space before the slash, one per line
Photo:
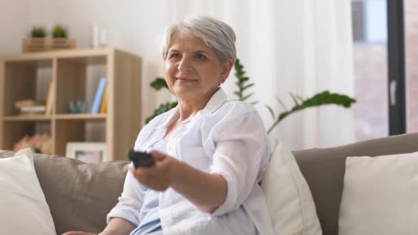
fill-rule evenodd
<path id="1" fill-rule="evenodd" d="M 0 234 L 56 234 L 30 148 L 0 159 Z"/>

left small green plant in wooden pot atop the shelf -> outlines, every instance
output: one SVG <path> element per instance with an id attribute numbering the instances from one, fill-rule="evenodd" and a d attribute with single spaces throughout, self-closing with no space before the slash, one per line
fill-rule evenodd
<path id="1" fill-rule="evenodd" d="M 33 26 L 30 32 L 30 38 L 23 38 L 22 52 L 42 52 L 47 47 L 45 40 L 46 32 L 42 26 Z"/>

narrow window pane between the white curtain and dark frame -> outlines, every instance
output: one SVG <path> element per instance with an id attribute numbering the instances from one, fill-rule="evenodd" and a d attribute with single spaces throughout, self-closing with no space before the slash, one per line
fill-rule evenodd
<path id="1" fill-rule="evenodd" d="M 388 135 L 386 1 L 352 1 L 355 137 Z"/>

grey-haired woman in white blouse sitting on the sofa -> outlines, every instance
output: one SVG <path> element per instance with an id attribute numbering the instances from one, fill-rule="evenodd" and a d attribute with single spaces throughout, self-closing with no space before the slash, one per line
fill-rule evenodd
<path id="1" fill-rule="evenodd" d="M 188 17 L 164 35 L 166 82 L 179 104 L 138 135 L 135 150 L 151 150 L 155 165 L 129 166 L 100 234 L 273 234 L 259 186 L 271 151 L 263 122 L 219 87 L 236 59 L 234 31 Z"/>

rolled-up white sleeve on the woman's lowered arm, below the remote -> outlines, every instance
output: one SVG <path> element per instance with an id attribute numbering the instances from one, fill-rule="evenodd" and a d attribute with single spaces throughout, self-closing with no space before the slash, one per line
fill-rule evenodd
<path id="1" fill-rule="evenodd" d="M 107 223 L 112 218 L 118 217 L 126 219 L 133 225 L 140 224 L 140 210 L 142 208 L 143 195 L 135 186 L 136 179 L 132 173 L 128 171 L 124 181 L 123 192 L 118 198 L 118 204 L 107 214 Z"/>

